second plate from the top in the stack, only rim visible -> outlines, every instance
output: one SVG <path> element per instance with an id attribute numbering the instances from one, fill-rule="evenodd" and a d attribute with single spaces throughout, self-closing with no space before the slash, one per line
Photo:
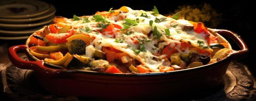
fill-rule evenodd
<path id="1" fill-rule="evenodd" d="M 0 18 L 0 23 L 5 23 L 5 24 L 28 24 L 31 22 L 35 22 L 41 19 L 45 19 L 47 17 L 50 17 L 52 15 L 54 15 L 54 13 L 56 12 L 55 7 L 50 4 L 50 9 L 47 13 L 44 13 L 43 15 L 39 15 L 37 17 L 34 18 L 27 18 L 27 19 L 6 19 L 6 18 Z"/>

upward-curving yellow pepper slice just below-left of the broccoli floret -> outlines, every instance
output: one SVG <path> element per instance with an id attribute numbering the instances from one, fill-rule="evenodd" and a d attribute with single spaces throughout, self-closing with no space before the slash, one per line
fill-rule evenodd
<path id="1" fill-rule="evenodd" d="M 45 62 L 47 63 L 50 63 L 50 64 L 55 64 L 55 65 L 58 65 L 58 66 L 64 66 L 64 63 L 67 62 L 68 60 L 72 59 L 73 58 L 73 55 L 71 55 L 70 53 L 67 52 L 67 54 L 61 58 L 60 60 L 53 60 L 53 59 L 49 59 L 49 58 L 45 58 Z"/>

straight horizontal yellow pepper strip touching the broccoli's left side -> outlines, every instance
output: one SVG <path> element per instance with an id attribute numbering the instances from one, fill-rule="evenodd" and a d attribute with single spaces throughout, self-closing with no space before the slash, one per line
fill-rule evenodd
<path id="1" fill-rule="evenodd" d="M 67 45 L 55 45 L 55 46 L 36 46 L 37 50 L 46 52 L 59 52 L 61 50 L 68 50 Z"/>

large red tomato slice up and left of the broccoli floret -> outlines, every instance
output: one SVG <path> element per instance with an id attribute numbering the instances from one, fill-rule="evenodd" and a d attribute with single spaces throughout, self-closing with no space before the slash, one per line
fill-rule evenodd
<path id="1" fill-rule="evenodd" d="M 65 43 L 67 38 L 74 34 L 74 29 L 68 30 L 66 33 L 47 34 L 45 37 L 52 43 Z"/>

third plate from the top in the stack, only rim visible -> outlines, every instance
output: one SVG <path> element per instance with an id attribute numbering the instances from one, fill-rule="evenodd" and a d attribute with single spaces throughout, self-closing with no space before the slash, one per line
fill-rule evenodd
<path id="1" fill-rule="evenodd" d="M 25 29 L 29 29 L 29 28 L 33 28 L 36 26 L 41 26 L 44 24 L 48 24 L 50 22 L 52 22 L 52 20 L 54 19 L 55 15 L 52 15 L 51 17 L 48 17 L 47 19 L 43 19 L 37 23 L 33 23 L 33 24 L 0 24 L 1 29 L 4 30 L 25 30 Z"/>

